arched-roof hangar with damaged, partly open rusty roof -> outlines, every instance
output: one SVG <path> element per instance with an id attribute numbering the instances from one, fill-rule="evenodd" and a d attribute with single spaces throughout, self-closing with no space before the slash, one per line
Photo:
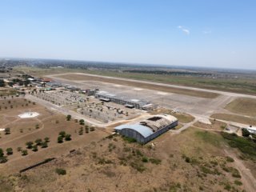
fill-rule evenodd
<path id="1" fill-rule="evenodd" d="M 178 126 L 178 119 L 170 114 L 157 114 L 144 121 L 117 126 L 114 130 L 127 138 L 134 138 L 137 142 L 145 144 L 160 134 Z"/>

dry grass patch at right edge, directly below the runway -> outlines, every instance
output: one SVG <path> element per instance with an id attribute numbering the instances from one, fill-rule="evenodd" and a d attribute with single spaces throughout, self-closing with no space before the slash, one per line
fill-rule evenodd
<path id="1" fill-rule="evenodd" d="M 256 99 L 237 98 L 226 106 L 226 110 L 236 114 L 243 114 L 251 117 L 256 116 Z"/>

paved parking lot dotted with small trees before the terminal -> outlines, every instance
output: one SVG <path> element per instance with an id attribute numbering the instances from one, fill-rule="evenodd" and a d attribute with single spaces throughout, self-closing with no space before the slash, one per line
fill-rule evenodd
<path id="1" fill-rule="evenodd" d="M 86 117 L 94 118 L 98 122 L 107 123 L 136 118 L 142 113 L 142 110 L 126 108 L 113 102 L 102 102 L 94 96 L 64 89 L 38 91 L 34 96 L 68 110 L 74 110 Z"/>

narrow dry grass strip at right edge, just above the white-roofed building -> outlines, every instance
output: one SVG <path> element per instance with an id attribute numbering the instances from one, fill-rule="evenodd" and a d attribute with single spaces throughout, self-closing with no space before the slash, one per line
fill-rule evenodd
<path id="1" fill-rule="evenodd" d="M 238 122 L 246 125 L 256 126 L 256 118 L 247 118 L 236 114 L 212 114 L 210 117 L 230 122 Z"/>

